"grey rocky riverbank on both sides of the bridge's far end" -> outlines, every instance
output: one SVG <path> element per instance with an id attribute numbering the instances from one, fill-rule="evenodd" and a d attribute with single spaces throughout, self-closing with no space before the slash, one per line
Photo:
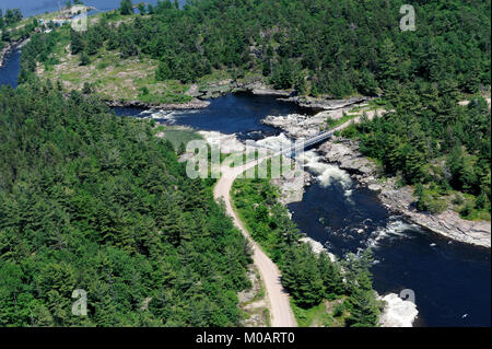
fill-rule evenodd
<path id="1" fill-rule="evenodd" d="M 341 104 L 343 105 L 343 104 Z M 350 101 L 339 109 L 318 113 L 314 117 L 303 115 L 289 115 L 280 117 L 268 117 L 265 124 L 282 129 L 291 138 L 309 137 L 326 127 L 328 117 L 337 119 L 341 115 L 353 113 L 353 103 Z M 353 115 L 362 113 L 366 104 L 359 104 Z M 382 109 L 367 109 L 368 118 L 382 113 Z M 359 185 L 365 186 L 378 194 L 379 200 L 394 214 L 403 216 L 409 222 L 426 228 L 448 239 L 472 244 L 477 246 L 491 247 L 491 224 L 487 221 L 468 221 L 450 209 L 433 214 L 421 212 L 415 208 L 413 189 L 410 186 L 398 187 L 396 178 L 383 179 L 377 165 L 366 159 L 360 151 L 355 141 L 333 138 L 318 148 L 324 161 L 337 164 L 347 171 Z"/>

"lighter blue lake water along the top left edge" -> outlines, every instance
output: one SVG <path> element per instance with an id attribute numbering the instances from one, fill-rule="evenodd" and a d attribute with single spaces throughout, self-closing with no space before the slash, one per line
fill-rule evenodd
<path id="1" fill-rule="evenodd" d="M 65 5 L 65 0 L 1 0 L 0 9 L 21 9 L 24 16 L 42 14 L 45 12 L 57 11 Z M 94 7 L 98 11 L 110 11 L 118 9 L 121 0 L 84 0 L 83 3 L 87 7 Z M 133 1 L 138 3 L 140 1 Z M 145 0 L 144 2 L 155 4 L 157 0 Z M 179 0 L 183 5 L 186 0 Z"/>

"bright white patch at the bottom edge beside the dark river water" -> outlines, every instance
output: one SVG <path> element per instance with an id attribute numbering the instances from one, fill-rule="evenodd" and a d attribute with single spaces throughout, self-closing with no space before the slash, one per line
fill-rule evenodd
<path id="1" fill-rule="evenodd" d="M 413 322 L 419 315 L 415 303 L 402 300 L 396 293 L 378 296 L 385 302 L 385 307 L 379 316 L 382 327 L 413 327 Z"/>

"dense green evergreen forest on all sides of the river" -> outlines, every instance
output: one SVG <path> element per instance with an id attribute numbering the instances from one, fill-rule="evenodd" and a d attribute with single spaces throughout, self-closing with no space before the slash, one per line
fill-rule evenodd
<path id="1" fill-rule="evenodd" d="M 490 93 L 491 2 L 415 1 L 417 31 L 401 32 L 405 2 L 165 0 L 134 15 L 124 0 L 89 32 L 72 31 L 69 49 L 83 66 L 103 50 L 153 58 L 160 81 L 226 71 L 301 95 L 380 96 L 388 112 L 342 135 L 382 174 L 413 185 L 419 209 L 490 220 L 491 114 L 480 94 Z M 0 91 L 0 324 L 236 325 L 249 251 L 210 183 L 186 178 L 152 125 L 112 115 L 90 86 L 65 97 L 61 82 L 37 81 L 38 62 L 59 63 L 59 40 L 58 31 L 32 35 L 24 84 Z M 297 306 L 342 299 L 345 325 L 375 325 L 368 255 L 315 255 L 268 182 L 235 190 Z M 69 314 L 74 289 L 87 291 L 89 317 Z"/>

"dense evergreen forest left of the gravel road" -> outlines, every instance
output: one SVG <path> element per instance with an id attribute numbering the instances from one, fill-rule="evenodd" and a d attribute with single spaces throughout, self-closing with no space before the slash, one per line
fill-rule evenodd
<path id="1" fill-rule="evenodd" d="M 49 82 L 0 89 L 0 326 L 238 324 L 246 241 L 151 126 Z"/>

